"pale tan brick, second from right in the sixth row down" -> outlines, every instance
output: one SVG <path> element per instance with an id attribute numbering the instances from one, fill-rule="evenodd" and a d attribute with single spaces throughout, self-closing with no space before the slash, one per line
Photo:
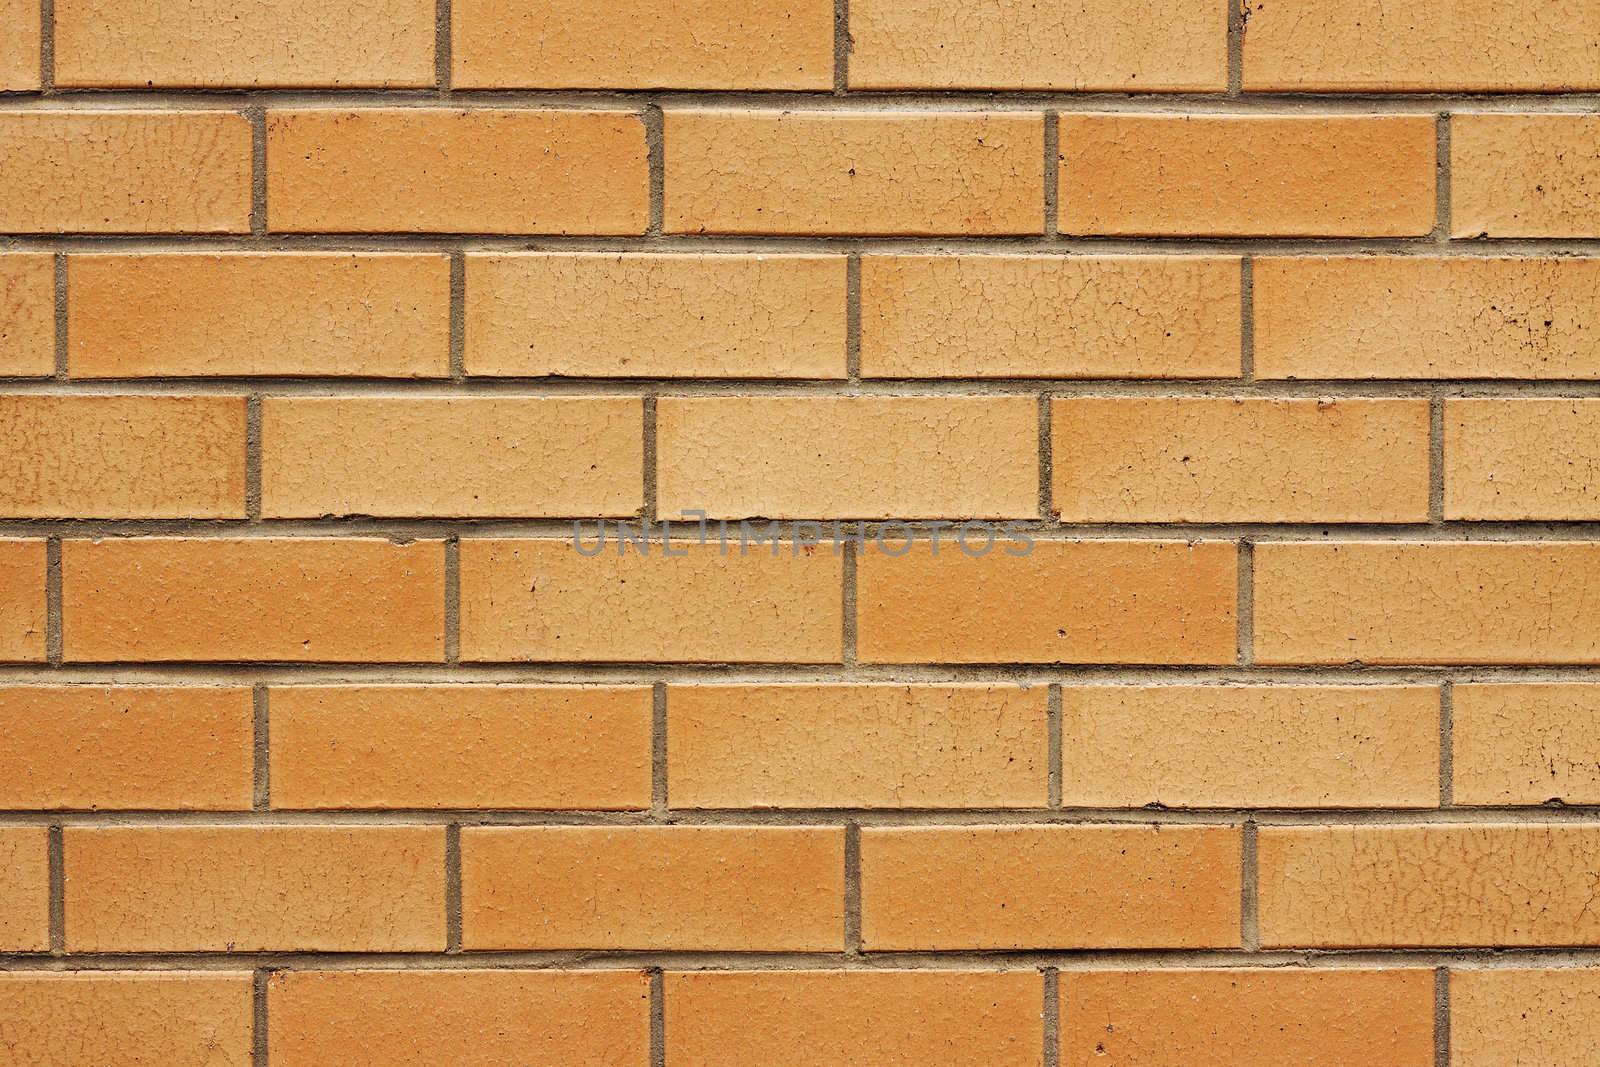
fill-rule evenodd
<path id="1" fill-rule="evenodd" d="M 1066 686 L 1062 798 L 1086 808 L 1432 808 L 1434 686 Z"/>

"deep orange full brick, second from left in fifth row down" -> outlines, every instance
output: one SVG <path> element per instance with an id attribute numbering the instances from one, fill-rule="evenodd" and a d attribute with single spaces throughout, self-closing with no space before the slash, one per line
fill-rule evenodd
<path id="1" fill-rule="evenodd" d="M 69 661 L 438 661 L 443 542 L 144 537 L 62 544 Z"/>

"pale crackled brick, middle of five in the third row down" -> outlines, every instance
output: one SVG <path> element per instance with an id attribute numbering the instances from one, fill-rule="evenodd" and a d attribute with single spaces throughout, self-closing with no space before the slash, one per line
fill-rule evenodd
<path id="1" fill-rule="evenodd" d="M 843 256 L 467 256 L 467 373 L 843 378 Z"/>

